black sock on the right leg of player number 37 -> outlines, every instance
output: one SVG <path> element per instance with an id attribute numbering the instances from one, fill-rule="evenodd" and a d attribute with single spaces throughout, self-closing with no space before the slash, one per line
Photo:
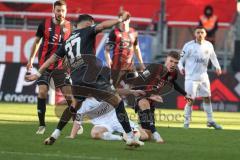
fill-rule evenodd
<path id="1" fill-rule="evenodd" d="M 121 101 L 118 104 L 118 106 L 115 107 L 115 110 L 116 110 L 118 121 L 121 123 L 124 131 L 126 133 L 131 132 L 132 129 L 131 129 L 131 126 L 130 126 L 130 123 L 129 123 L 128 115 L 127 115 L 127 112 L 125 110 L 123 101 Z"/>

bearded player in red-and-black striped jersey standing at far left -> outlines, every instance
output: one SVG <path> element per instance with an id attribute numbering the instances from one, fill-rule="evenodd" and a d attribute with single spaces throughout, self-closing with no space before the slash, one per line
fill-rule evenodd
<path id="1" fill-rule="evenodd" d="M 61 47 L 63 41 L 69 37 L 71 25 L 69 21 L 65 20 L 66 11 L 66 3 L 61 0 L 56 1 L 53 9 L 55 17 L 45 19 L 45 21 L 38 26 L 31 56 L 27 64 L 27 71 L 30 71 L 32 68 L 37 51 L 38 67 L 41 67 L 42 64 Z M 37 85 L 39 92 L 37 110 L 39 128 L 36 134 L 43 134 L 45 132 L 46 98 L 51 76 L 53 77 L 55 87 L 60 87 L 63 92 L 68 92 L 69 90 L 63 86 L 65 71 L 62 68 L 62 60 L 52 63 L 41 77 L 38 78 Z"/>

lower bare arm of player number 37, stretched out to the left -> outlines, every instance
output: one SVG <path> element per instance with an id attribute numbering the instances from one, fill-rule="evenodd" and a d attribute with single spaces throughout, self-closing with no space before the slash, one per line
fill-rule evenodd
<path id="1" fill-rule="evenodd" d="M 43 63 L 43 65 L 40 67 L 36 74 L 26 75 L 25 80 L 26 81 L 37 80 L 52 63 L 57 61 L 57 59 L 58 59 L 57 55 L 53 54 L 45 63 Z"/>

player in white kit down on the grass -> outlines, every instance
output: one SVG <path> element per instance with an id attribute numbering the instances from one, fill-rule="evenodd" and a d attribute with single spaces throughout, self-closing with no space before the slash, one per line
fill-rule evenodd
<path id="1" fill-rule="evenodd" d="M 124 134 L 124 130 L 121 124 L 118 122 L 116 111 L 107 102 L 99 102 L 93 97 L 87 98 L 81 108 L 77 112 L 77 118 L 74 121 L 71 135 L 69 138 L 75 138 L 84 117 L 88 117 L 91 123 L 94 125 L 91 130 L 91 137 L 93 139 L 103 139 L 103 140 L 122 140 L 121 135 L 113 134 L 113 132 L 119 132 Z M 138 127 L 133 121 L 130 121 L 130 125 L 136 135 L 140 137 L 141 140 L 148 139 L 147 133 Z"/>

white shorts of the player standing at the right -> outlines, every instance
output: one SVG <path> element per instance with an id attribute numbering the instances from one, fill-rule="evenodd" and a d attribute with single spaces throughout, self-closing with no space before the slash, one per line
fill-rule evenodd
<path id="1" fill-rule="evenodd" d="M 191 98 L 210 97 L 211 89 L 209 79 L 194 81 L 185 80 L 185 91 Z"/>

